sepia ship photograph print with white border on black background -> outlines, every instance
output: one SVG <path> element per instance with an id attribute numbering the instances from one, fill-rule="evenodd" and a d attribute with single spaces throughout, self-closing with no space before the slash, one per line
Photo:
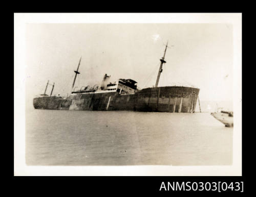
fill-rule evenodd
<path id="1" fill-rule="evenodd" d="M 241 59 L 239 13 L 16 13 L 14 175 L 241 176 Z"/>

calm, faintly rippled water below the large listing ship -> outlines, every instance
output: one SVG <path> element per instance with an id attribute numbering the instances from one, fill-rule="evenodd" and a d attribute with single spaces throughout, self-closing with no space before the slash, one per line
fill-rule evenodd
<path id="1" fill-rule="evenodd" d="M 230 165 L 232 128 L 209 113 L 31 110 L 28 165 Z"/>

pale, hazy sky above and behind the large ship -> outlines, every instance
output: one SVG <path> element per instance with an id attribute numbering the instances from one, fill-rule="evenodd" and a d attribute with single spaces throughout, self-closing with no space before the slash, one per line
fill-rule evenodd
<path id="1" fill-rule="evenodd" d="M 44 93 L 47 80 L 53 94 L 70 93 L 80 57 L 79 88 L 100 85 L 105 73 L 152 87 L 168 40 L 159 87 L 190 84 L 202 101 L 232 100 L 232 32 L 230 24 L 209 23 L 27 24 L 26 95 Z"/>

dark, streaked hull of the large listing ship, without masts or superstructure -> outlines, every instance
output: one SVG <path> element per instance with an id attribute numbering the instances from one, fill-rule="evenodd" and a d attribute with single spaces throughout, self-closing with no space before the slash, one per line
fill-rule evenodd
<path id="1" fill-rule="evenodd" d="M 143 111 L 143 112 L 195 112 L 199 89 L 167 86 L 145 88 L 134 94 L 104 92 L 71 95 L 67 99 L 57 96 L 36 97 L 35 109 L 90 110 L 90 111 Z"/>

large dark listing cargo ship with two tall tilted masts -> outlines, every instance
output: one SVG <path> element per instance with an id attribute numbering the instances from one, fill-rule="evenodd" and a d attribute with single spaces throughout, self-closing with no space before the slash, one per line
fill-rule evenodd
<path id="1" fill-rule="evenodd" d="M 100 86 L 82 86 L 74 88 L 77 75 L 80 74 L 79 60 L 77 69 L 74 70 L 75 77 L 72 90 L 67 97 L 52 96 L 55 84 L 47 82 L 44 94 L 33 99 L 35 109 L 48 110 L 89 110 L 89 111 L 138 111 L 138 112 L 178 112 L 194 113 L 197 105 L 200 89 L 186 86 L 163 86 L 158 87 L 166 49 L 160 59 L 160 67 L 154 87 L 143 89 L 137 88 L 137 82 L 133 79 L 119 79 L 110 82 L 111 76 L 105 74 Z M 52 85 L 51 94 L 46 94 L 48 85 Z M 200 103 L 199 103 L 200 104 Z"/>

